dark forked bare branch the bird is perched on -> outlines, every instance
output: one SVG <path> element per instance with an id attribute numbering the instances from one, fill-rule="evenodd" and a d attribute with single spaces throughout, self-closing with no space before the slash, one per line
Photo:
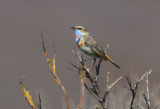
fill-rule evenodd
<path id="1" fill-rule="evenodd" d="M 75 54 L 75 52 L 74 52 Z M 96 75 L 92 75 L 92 73 L 89 72 L 89 69 L 85 66 L 85 60 L 83 59 L 83 56 L 80 54 L 80 52 L 77 52 L 77 58 L 78 58 L 78 61 L 79 61 L 79 66 L 76 66 L 75 64 L 72 64 L 71 65 L 76 68 L 79 72 L 79 74 L 81 74 L 81 72 L 85 72 L 86 73 L 86 78 L 90 81 L 91 83 L 91 86 L 92 88 L 89 88 L 88 85 L 84 82 L 84 86 L 86 87 L 86 89 L 88 90 L 88 92 L 93 95 L 93 97 L 95 99 L 97 99 L 100 103 L 99 105 L 99 109 L 102 107 L 103 109 L 107 109 L 107 106 L 105 106 L 105 102 L 106 102 L 106 96 L 108 95 L 109 93 L 109 90 L 122 78 L 122 77 L 119 77 L 115 82 L 113 82 L 111 85 L 108 85 L 107 83 L 107 88 L 106 88 L 106 91 L 104 93 L 104 96 L 103 98 L 100 97 L 100 89 L 99 89 L 99 86 L 98 86 L 98 79 L 99 79 L 99 74 L 100 74 L 100 66 L 101 66 L 101 63 L 102 63 L 102 59 L 99 60 L 99 63 L 95 66 L 95 69 L 96 69 Z M 108 73 L 108 79 L 107 79 L 107 82 L 109 81 L 109 73 Z M 82 87 L 83 88 L 83 87 Z M 83 89 L 82 89 L 83 90 Z M 81 102 L 82 104 L 82 102 Z M 106 103 L 107 104 L 107 103 Z M 82 108 L 82 105 L 77 107 L 77 108 Z"/>

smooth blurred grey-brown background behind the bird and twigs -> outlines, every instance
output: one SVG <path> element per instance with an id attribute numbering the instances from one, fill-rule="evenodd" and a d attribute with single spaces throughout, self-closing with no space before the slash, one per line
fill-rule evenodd
<path id="1" fill-rule="evenodd" d="M 101 85 L 106 73 L 113 78 L 129 72 L 142 75 L 150 68 L 150 84 L 159 84 L 159 0 L 0 0 L 0 108 L 29 109 L 19 87 L 18 74 L 25 76 L 35 103 L 40 92 L 44 109 L 62 109 L 64 97 L 46 63 L 40 39 L 44 34 L 49 57 L 56 43 L 57 74 L 70 103 L 80 102 L 80 81 L 69 62 L 78 50 L 70 26 L 89 29 L 108 54 L 121 66 L 103 62 Z M 89 58 L 84 55 L 85 58 Z M 88 62 L 90 64 L 91 62 Z M 138 77 L 138 76 L 137 76 Z"/>

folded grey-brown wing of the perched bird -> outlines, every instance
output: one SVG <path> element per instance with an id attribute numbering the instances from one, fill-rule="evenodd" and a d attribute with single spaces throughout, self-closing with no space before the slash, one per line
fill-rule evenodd
<path id="1" fill-rule="evenodd" d="M 105 52 L 92 36 L 84 36 L 85 45 L 93 50 L 97 57 L 105 58 Z"/>

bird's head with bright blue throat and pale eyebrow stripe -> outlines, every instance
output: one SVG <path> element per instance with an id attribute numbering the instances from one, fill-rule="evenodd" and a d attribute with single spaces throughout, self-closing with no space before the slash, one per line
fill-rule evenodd
<path id="1" fill-rule="evenodd" d="M 75 32 L 76 42 L 79 41 L 82 35 L 89 34 L 88 30 L 83 26 L 75 26 L 75 27 L 71 27 L 71 29 L 73 29 Z"/>

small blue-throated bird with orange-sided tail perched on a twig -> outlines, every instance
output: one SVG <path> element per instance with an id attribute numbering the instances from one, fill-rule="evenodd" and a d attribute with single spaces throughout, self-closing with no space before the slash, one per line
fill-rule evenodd
<path id="1" fill-rule="evenodd" d="M 96 62 L 96 58 L 110 61 L 117 68 L 120 68 L 108 55 L 104 52 L 102 47 L 94 40 L 88 30 L 83 26 L 71 27 L 75 32 L 75 41 L 78 47 L 86 54 L 90 55 L 94 59 L 93 66 Z"/>

